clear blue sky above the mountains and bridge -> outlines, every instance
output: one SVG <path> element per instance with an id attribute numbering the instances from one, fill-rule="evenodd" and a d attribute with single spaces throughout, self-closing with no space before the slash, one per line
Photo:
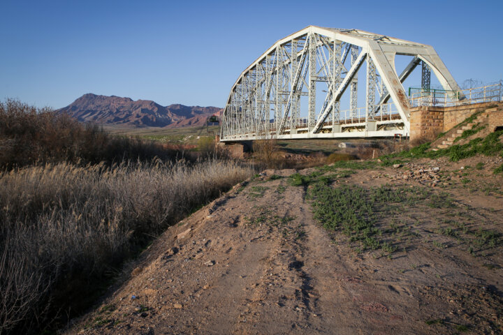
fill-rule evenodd
<path id="1" fill-rule="evenodd" d="M 0 99 L 86 93 L 223 106 L 276 40 L 309 24 L 433 45 L 462 83 L 503 78 L 502 1 L 23 1 L 0 11 Z"/>

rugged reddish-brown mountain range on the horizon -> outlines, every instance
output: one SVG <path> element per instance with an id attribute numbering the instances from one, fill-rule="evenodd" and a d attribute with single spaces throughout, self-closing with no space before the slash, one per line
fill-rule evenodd
<path id="1" fill-rule="evenodd" d="M 221 114 L 219 107 L 161 106 L 150 100 L 133 101 L 120 96 L 84 94 L 58 114 L 68 114 L 82 122 L 123 126 L 180 128 L 203 126 L 212 114 Z"/>

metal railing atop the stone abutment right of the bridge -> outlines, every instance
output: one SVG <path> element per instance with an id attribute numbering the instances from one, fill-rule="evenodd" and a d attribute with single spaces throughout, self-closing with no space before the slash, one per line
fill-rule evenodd
<path id="1" fill-rule="evenodd" d="M 451 107 L 472 103 L 503 101 L 503 83 L 491 84 L 461 91 L 428 90 L 411 94 L 411 107 L 437 106 Z"/>

